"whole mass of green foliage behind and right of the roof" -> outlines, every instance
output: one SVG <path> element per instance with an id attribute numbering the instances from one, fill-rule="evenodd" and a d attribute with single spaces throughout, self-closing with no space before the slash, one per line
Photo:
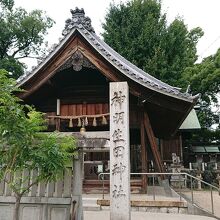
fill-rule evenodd
<path id="1" fill-rule="evenodd" d="M 202 127 L 216 123 L 211 104 L 220 87 L 220 51 L 195 64 L 201 28 L 189 30 L 180 17 L 168 24 L 158 0 L 131 0 L 110 5 L 103 29 L 106 43 L 139 68 L 183 91 L 191 85 L 192 94 L 201 94 Z"/>

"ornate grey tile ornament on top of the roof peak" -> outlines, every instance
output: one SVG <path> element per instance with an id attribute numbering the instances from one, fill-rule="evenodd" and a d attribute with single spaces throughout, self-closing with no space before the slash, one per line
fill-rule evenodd
<path id="1" fill-rule="evenodd" d="M 83 26 L 87 31 L 95 33 L 91 19 L 89 17 L 85 17 L 84 9 L 75 8 L 75 10 L 70 10 L 72 14 L 72 19 L 67 19 L 65 23 L 65 28 L 63 30 L 63 35 L 67 35 L 73 28 Z"/>

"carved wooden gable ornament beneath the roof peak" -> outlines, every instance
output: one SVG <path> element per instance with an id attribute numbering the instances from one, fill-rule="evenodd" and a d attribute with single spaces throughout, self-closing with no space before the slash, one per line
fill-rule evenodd
<path id="1" fill-rule="evenodd" d="M 80 51 L 76 51 L 57 72 L 72 67 L 75 71 L 80 71 L 83 67 L 96 69 L 96 67 Z"/>

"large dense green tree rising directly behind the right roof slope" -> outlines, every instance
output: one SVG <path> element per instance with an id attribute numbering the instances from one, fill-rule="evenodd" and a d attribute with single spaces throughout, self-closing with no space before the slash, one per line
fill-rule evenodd
<path id="1" fill-rule="evenodd" d="M 122 56 L 173 86 L 183 86 L 183 70 L 197 60 L 200 28 L 188 30 L 181 18 L 167 24 L 157 0 L 111 4 L 103 24 L 106 43 Z"/>

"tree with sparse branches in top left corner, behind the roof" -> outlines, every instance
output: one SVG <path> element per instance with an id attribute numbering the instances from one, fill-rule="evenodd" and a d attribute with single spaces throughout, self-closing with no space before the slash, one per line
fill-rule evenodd
<path id="1" fill-rule="evenodd" d="M 41 10 L 15 8 L 14 0 L 0 0 L 0 68 L 18 78 L 24 72 L 23 58 L 39 58 L 44 36 L 53 20 Z"/>

